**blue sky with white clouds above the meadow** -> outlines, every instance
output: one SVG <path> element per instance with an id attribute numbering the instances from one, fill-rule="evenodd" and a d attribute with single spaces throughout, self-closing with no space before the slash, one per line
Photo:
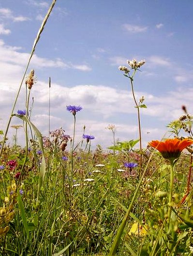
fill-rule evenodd
<path id="1" fill-rule="evenodd" d="M 0 1 L 0 108 L 5 129 L 31 47 L 51 0 Z M 143 145 L 161 139 L 166 125 L 193 113 L 193 1 L 184 0 L 57 0 L 30 64 L 37 83 L 32 122 L 48 133 L 48 79 L 51 77 L 51 129 L 73 134 L 66 105 L 81 105 L 76 140 L 82 127 L 94 135 L 93 145 L 112 144 L 105 129 L 115 124 L 116 139 L 138 138 L 136 109 L 129 80 L 119 71 L 127 60 L 145 59 L 134 78 L 141 110 Z M 23 85 L 15 112 L 24 109 Z M 31 104 L 31 101 L 30 101 Z M 12 125 L 20 124 L 16 118 Z M 10 128 L 9 138 L 15 130 Z M 169 135 L 169 134 L 168 134 Z M 24 132 L 18 130 L 19 142 Z"/>

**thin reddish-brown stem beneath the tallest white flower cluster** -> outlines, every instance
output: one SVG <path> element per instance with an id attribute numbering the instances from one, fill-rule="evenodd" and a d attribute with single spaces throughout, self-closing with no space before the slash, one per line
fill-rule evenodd
<path id="1" fill-rule="evenodd" d="M 137 104 L 135 95 L 134 95 L 134 84 L 133 84 L 133 78 L 134 78 L 134 74 L 136 73 L 136 69 L 134 69 L 134 73 L 132 75 L 132 77 L 129 76 L 130 80 L 131 80 L 131 88 L 132 88 L 132 94 L 133 94 L 133 98 L 134 98 L 134 103 L 137 109 L 137 119 L 138 119 L 138 129 L 139 129 L 139 148 L 140 148 L 140 162 L 139 162 L 139 168 L 140 168 L 140 175 L 142 173 L 142 138 L 141 138 L 141 122 L 140 122 L 140 112 L 139 112 L 139 105 Z"/>

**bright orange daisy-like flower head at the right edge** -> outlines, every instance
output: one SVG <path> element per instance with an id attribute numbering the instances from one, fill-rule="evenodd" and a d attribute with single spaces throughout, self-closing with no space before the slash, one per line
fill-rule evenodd
<path id="1" fill-rule="evenodd" d="M 165 141 L 152 141 L 149 145 L 156 148 L 162 154 L 163 158 L 169 159 L 170 161 L 178 159 L 181 151 L 193 144 L 192 139 L 167 139 Z"/>

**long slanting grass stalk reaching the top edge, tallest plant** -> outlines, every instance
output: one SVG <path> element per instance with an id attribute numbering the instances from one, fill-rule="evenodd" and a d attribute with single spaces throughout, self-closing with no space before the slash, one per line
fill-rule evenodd
<path id="1" fill-rule="evenodd" d="M 3 146 L 4 146 L 5 141 L 6 141 L 7 133 L 8 133 L 8 130 L 9 130 L 9 126 L 10 126 L 10 123 L 11 123 L 11 120 L 12 120 L 12 117 L 13 117 L 13 113 L 14 113 L 14 110 L 15 110 L 15 105 L 16 105 L 16 102 L 17 102 L 17 99 L 18 99 L 18 96 L 19 96 L 19 93 L 20 93 L 20 90 L 21 90 L 21 86 L 22 86 L 23 81 L 24 81 L 24 79 L 25 79 L 25 76 L 26 76 L 26 73 L 27 73 L 27 70 L 28 70 L 28 67 L 29 67 L 31 58 L 32 58 L 32 56 L 33 56 L 33 53 L 35 52 L 36 45 L 37 45 L 37 43 L 38 43 L 38 41 L 39 41 L 39 39 L 40 39 L 40 36 L 41 36 L 41 34 L 42 34 L 43 30 L 44 30 L 45 24 L 46 24 L 46 22 L 47 22 L 47 20 L 48 20 L 48 18 L 49 18 L 49 16 L 50 16 L 50 13 L 52 12 L 52 9 L 53 9 L 53 7 L 54 7 L 56 1 L 57 1 L 57 0 L 53 0 L 53 1 L 52 1 L 51 5 L 50 5 L 50 8 L 49 8 L 49 10 L 48 10 L 48 12 L 47 12 L 47 14 L 46 14 L 46 16 L 45 16 L 43 22 L 42 22 L 42 25 L 41 25 L 41 27 L 40 27 L 38 33 L 37 33 L 37 36 L 36 36 L 35 41 L 34 41 L 34 44 L 33 44 L 33 46 L 32 46 L 31 53 L 30 53 L 30 58 L 29 58 L 29 60 L 28 60 L 26 69 L 25 69 L 25 71 L 24 71 L 23 78 L 22 78 L 22 80 L 21 80 L 21 83 L 20 83 L 18 92 L 17 92 L 17 94 L 16 94 L 15 101 L 14 101 L 14 104 L 13 104 L 13 107 L 12 107 L 12 111 L 11 111 L 11 114 L 10 114 L 10 118 L 9 118 L 9 120 L 8 120 L 8 124 L 7 124 L 6 130 L 5 130 L 5 133 L 4 133 L 3 141 L 2 141 L 2 143 L 1 143 L 0 158 L 1 158 L 1 155 L 2 155 Z"/>

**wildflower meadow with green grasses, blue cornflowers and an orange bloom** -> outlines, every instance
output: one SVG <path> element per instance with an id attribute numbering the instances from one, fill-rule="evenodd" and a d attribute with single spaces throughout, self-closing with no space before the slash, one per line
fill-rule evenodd
<path id="1" fill-rule="evenodd" d="M 1 256 L 191 256 L 193 255 L 193 116 L 186 106 L 178 120 L 166 124 L 169 137 L 143 147 L 141 109 L 135 77 L 145 60 L 128 60 L 119 75 L 131 86 L 138 139 L 92 147 L 97 134 L 76 123 L 84 106 L 66 105 L 71 134 L 56 128 L 44 136 L 31 122 L 30 92 L 36 83 L 30 60 L 56 0 L 53 0 L 31 49 L 5 130 L 0 130 Z M 22 86 L 25 107 L 15 109 Z M 7 144 L 12 119 L 13 144 Z M 24 130 L 25 146 L 17 144 Z"/>

